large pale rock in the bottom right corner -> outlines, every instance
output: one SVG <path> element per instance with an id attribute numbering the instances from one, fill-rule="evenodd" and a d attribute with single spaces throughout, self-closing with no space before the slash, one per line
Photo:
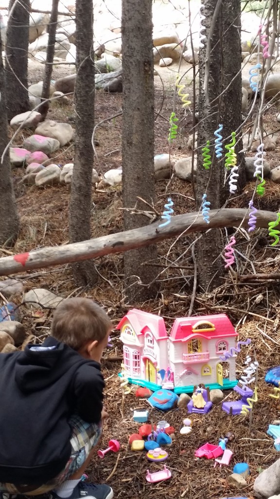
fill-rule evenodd
<path id="1" fill-rule="evenodd" d="M 256 478 L 254 493 L 258 498 L 262 499 L 280 495 L 280 459 Z"/>

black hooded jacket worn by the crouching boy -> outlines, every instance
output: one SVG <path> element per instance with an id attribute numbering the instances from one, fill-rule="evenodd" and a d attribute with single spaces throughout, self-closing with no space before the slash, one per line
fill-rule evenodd
<path id="1" fill-rule="evenodd" d="M 100 364 L 51 336 L 41 346 L 55 348 L 0 354 L 0 482 L 55 478 L 70 457 L 71 415 L 101 421 Z"/>

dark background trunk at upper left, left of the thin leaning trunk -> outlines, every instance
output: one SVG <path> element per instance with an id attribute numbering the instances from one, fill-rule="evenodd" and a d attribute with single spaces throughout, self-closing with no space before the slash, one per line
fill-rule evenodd
<path id="1" fill-rule="evenodd" d="M 28 98 L 28 43 L 29 43 L 29 0 L 10 0 L 10 15 L 6 33 L 6 99 L 7 119 L 29 110 Z"/>

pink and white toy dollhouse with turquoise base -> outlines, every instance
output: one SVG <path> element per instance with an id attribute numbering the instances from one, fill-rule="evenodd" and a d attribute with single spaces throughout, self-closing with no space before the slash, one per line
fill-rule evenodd
<path id="1" fill-rule="evenodd" d="M 200 383 L 210 389 L 237 384 L 236 352 L 231 351 L 237 333 L 225 314 L 175 319 L 168 336 L 162 317 L 134 308 L 117 329 L 124 344 L 123 375 L 129 383 L 175 393 L 193 392 Z"/>

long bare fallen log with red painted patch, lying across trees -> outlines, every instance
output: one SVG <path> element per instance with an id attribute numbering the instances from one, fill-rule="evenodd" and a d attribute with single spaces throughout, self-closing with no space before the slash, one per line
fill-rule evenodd
<path id="1" fill-rule="evenodd" d="M 229 209 L 211 210 L 210 222 L 206 224 L 198 212 L 177 215 L 171 218 L 170 224 L 158 228 L 161 221 L 131 231 L 110 234 L 81 243 L 53 246 L 19 253 L 0 258 L 0 275 L 9 275 L 22 270 L 51 267 L 73 261 L 98 258 L 106 254 L 122 253 L 143 246 L 154 245 L 164 239 L 174 238 L 183 233 L 184 236 L 193 232 L 204 232 L 221 227 L 247 227 L 249 210 Z M 268 223 L 277 220 L 274 212 L 258 210 L 257 227 L 268 228 Z"/>

